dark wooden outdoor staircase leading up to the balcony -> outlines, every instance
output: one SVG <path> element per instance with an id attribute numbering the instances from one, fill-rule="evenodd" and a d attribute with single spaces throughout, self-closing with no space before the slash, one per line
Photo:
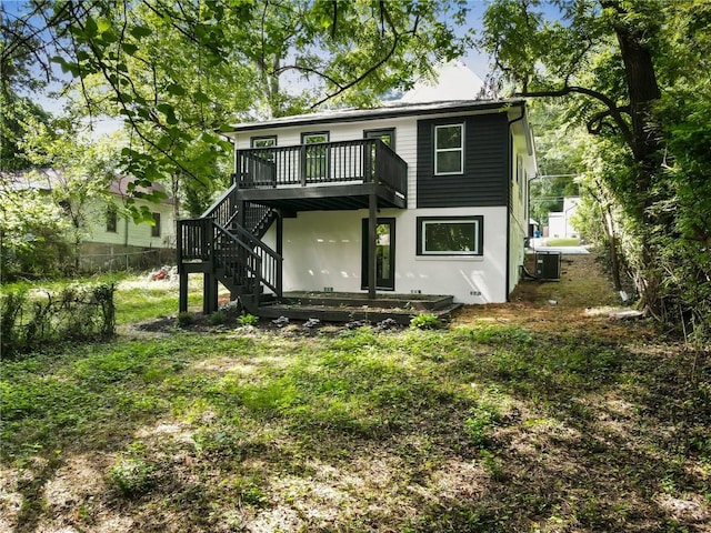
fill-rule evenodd
<path id="1" fill-rule="evenodd" d="M 190 273 L 204 275 L 206 314 L 218 309 L 218 282 L 254 314 L 281 296 L 282 258 L 261 240 L 278 218 L 274 209 L 240 201 L 234 183 L 200 218 L 179 220 L 180 311 L 188 310 Z"/>

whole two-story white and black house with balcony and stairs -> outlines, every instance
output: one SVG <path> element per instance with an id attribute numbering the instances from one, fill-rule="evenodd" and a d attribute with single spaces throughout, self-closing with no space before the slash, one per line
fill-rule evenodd
<path id="1" fill-rule="evenodd" d="M 524 100 L 405 98 L 227 135 L 231 188 L 200 219 L 179 221 L 181 311 L 196 272 L 207 312 L 221 282 L 262 315 L 269 293 L 474 304 L 505 302 L 519 282 L 537 171 Z"/>

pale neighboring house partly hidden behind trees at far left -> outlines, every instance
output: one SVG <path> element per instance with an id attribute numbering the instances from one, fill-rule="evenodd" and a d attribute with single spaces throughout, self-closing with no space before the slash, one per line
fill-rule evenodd
<path id="1" fill-rule="evenodd" d="M 153 215 L 153 225 L 136 224 L 126 212 L 129 185 L 133 178 L 118 175 L 108 184 L 104 194 L 89 194 L 79 205 L 77 198 L 60 201 L 68 218 L 74 217 L 74 228 L 81 241 L 79 264 L 82 270 L 116 270 L 147 268 L 172 262 L 176 250 L 174 202 L 170 194 L 158 203 L 136 199 L 137 208 L 146 207 Z M 67 190 L 69 179 L 54 169 L 38 169 L 3 175 L 6 187 L 33 191 L 50 197 L 52 191 Z M 166 192 L 154 183 L 151 190 Z M 144 192 L 150 192 L 146 191 Z"/>

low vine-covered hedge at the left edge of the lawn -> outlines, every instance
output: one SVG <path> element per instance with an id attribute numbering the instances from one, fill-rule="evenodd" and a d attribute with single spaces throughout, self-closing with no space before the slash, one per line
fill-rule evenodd
<path id="1" fill-rule="evenodd" d="M 3 355 L 113 334 L 114 292 L 113 283 L 71 284 L 53 293 L 30 294 L 24 286 L 6 291 L 0 298 Z"/>

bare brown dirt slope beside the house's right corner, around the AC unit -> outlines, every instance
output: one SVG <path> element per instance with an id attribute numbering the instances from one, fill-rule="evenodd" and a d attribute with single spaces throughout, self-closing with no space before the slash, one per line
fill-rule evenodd
<path id="1" fill-rule="evenodd" d="M 532 257 L 529 261 L 532 263 Z M 532 269 L 529 269 L 532 271 Z M 625 306 L 595 254 L 563 254 L 560 281 L 524 280 L 501 304 L 467 305 L 452 325 L 503 322 L 531 330 L 560 333 L 587 330 L 599 336 L 648 336 L 643 320 L 618 320 L 611 315 Z"/>

